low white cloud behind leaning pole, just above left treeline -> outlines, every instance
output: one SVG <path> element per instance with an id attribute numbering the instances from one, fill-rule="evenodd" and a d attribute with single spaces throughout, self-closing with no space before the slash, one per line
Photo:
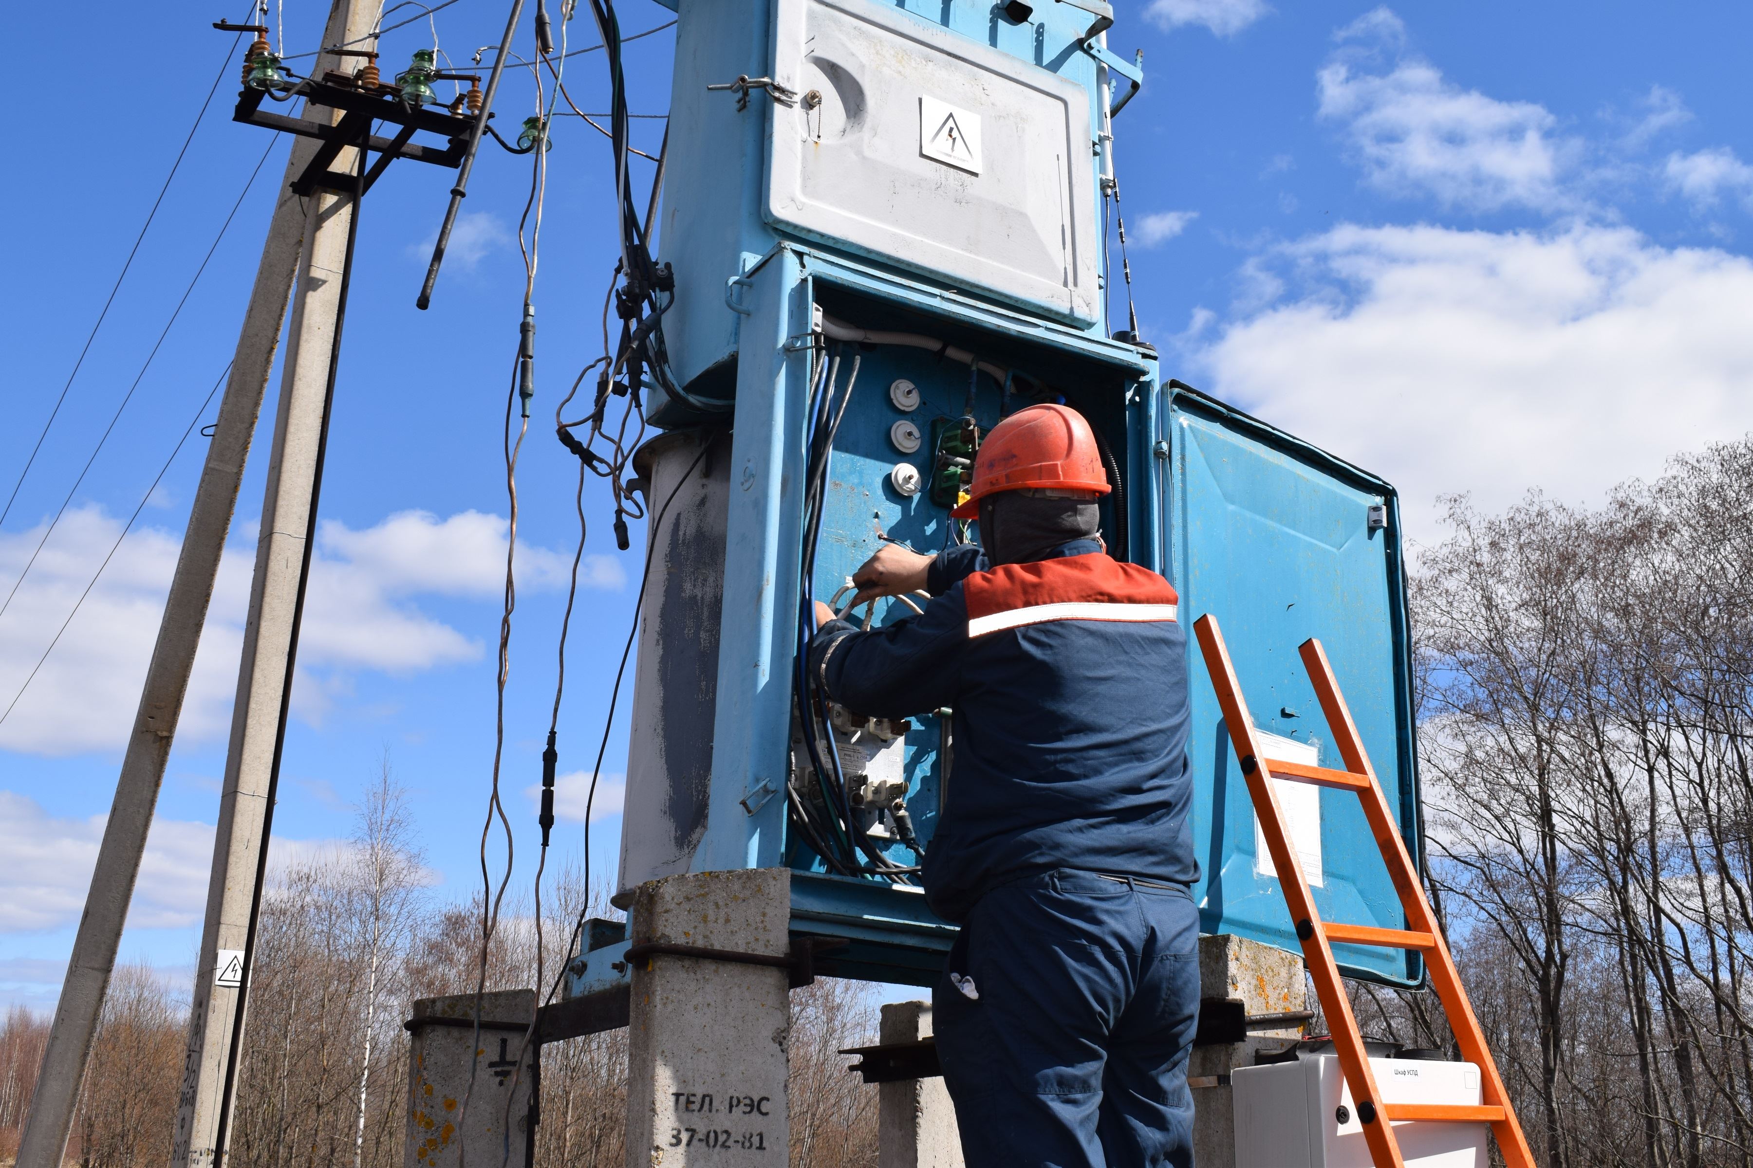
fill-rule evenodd
<path id="1" fill-rule="evenodd" d="M 107 816 L 61 820 L 0 790 L 0 933 L 63 928 L 79 919 Z M 153 820 L 140 879 L 128 909 L 131 928 L 186 928 L 202 919 L 212 870 L 214 828 Z"/>

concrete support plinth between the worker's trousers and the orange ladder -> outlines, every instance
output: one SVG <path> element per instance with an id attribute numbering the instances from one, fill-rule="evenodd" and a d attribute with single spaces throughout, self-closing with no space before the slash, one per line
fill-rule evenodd
<path id="1" fill-rule="evenodd" d="M 1199 939 L 1199 996 L 1245 1003 L 1248 1014 L 1308 1009 L 1302 958 L 1255 940 L 1218 933 Z M 1234 1168 L 1236 1128 L 1229 1072 L 1252 1066 L 1257 1051 L 1276 1051 L 1302 1037 L 1299 1026 L 1253 1030 L 1246 1042 L 1194 1047 L 1187 1080 L 1194 1087 L 1194 1163 Z"/>

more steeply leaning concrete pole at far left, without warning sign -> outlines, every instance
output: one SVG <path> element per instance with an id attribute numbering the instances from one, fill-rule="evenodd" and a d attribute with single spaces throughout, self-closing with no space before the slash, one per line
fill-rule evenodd
<path id="1" fill-rule="evenodd" d="M 337 28 L 331 18 L 331 37 Z M 189 510 L 177 571 L 165 599 L 165 615 L 158 625 L 158 643 L 147 665 L 140 707 L 128 735 L 121 776 L 116 779 L 116 800 L 103 827 L 91 890 L 86 893 L 86 911 L 74 939 L 67 981 L 61 984 L 54 1026 L 37 1075 L 37 1091 L 25 1119 L 18 1152 L 23 1168 L 56 1168 L 67 1149 L 79 1086 L 96 1037 L 133 884 L 140 874 L 140 856 L 145 853 L 147 830 L 153 827 L 153 807 L 158 804 L 158 788 L 165 779 L 177 718 L 182 714 L 195 650 L 207 622 L 207 604 L 219 574 L 231 513 L 237 510 L 244 462 L 256 434 L 305 238 L 305 214 L 287 186 L 303 173 L 316 149 L 317 144 L 310 138 L 293 142 L 280 196 L 268 224 L 268 238 L 261 249 L 261 263 L 256 266 L 256 284 L 244 312 L 237 355 L 231 361 L 224 398 L 219 401 L 219 420 L 207 447 L 200 485 L 195 489 L 195 506 Z"/>

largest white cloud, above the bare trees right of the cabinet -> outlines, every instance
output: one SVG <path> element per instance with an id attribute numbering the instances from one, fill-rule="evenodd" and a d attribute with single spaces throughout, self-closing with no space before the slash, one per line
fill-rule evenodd
<path id="1" fill-rule="evenodd" d="M 1260 266 L 1281 294 L 1183 347 L 1210 387 L 1402 490 L 1599 501 L 1753 429 L 1753 261 L 1625 228 L 1339 226 Z"/>

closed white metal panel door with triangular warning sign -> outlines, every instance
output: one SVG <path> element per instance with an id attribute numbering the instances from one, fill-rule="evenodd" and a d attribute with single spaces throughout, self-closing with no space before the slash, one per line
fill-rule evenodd
<path id="1" fill-rule="evenodd" d="M 1097 320 L 1083 86 L 868 0 L 777 0 L 773 75 L 770 222 Z"/>

